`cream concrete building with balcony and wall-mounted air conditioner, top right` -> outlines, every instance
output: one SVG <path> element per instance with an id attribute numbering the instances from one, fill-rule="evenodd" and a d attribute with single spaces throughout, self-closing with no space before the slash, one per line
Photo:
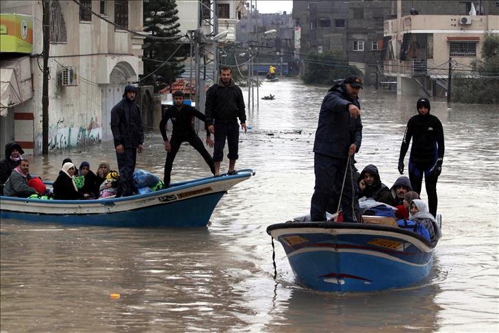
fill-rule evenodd
<path id="1" fill-rule="evenodd" d="M 496 1 L 396 1 L 396 18 L 385 21 L 385 75 L 396 77 L 400 95 L 442 97 L 449 58 L 453 68 L 471 70 L 481 59 L 483 38 L 499 33 Z M 476 5 L 476 7 L 475 7 Z M 478 14 L 470 14 L 472 8 Z M 476 10 L 478 8 L 478 10 Z"/>

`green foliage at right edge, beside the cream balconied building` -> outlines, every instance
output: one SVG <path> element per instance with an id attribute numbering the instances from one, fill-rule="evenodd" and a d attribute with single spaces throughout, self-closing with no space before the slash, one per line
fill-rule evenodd
<path id="1" fill-rule="evenodd" d="M 482 61 L 474 63 L 474 76 L 452 75 L 452 98 L 462 103 L 499 103 L 499 36 L 487 34 L 482 45 Z"/>

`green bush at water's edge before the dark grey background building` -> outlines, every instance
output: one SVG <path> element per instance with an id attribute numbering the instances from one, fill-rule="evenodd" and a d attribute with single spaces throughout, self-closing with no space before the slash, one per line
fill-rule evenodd
<path id="1" fill-rule="evenodd" d="M 306 84 L 333 85 L 335 80 L 359 74 L 357 67 L 349 66 L 338 53 L 308 53 L 302 79 Z"/>

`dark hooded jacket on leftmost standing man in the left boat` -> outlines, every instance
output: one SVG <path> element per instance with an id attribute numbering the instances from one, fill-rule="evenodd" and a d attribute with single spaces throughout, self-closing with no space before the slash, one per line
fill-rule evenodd
<path id="1" fill-rule="evenodd" d="M 137 148 L 144 143 L 144 129 L 140 108 L 135 100 L 130 101 L 127 93 L 137 93 L 134 86 L 126 86 L 123 99 L 111 110 L 111 130 L 114 138 L 114 147 L 123 145 L 126 148 Z"/>

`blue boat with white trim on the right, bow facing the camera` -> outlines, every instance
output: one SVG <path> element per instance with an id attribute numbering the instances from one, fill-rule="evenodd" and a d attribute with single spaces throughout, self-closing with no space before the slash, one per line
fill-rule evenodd
<path id="1" fill-rule="evenodd" d="M 438 240 L 368 223 L 290 221 L 268 226 L 267 233 L 283 245 L 300 284 L 340 292 L 417 284 L 431 272 Z"/>

